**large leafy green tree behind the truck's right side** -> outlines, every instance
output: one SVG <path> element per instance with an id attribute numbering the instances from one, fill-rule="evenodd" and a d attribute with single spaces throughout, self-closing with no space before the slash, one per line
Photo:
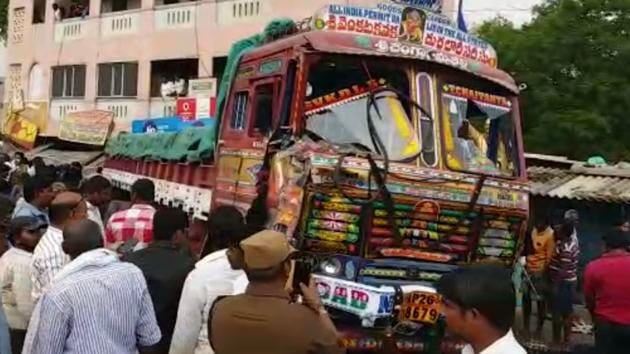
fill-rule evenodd
<path id="1" fill-rule="evenodd" d="M 630 1 L 547 0 L 522 28 L 499 17 L 477 33 L 527 85 L 527 151 L 630 159 Z"/>

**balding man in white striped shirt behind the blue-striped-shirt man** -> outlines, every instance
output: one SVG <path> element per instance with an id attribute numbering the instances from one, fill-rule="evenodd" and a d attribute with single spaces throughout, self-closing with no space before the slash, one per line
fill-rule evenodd
<path id="1" fill-rule="evenodd" d="M 50 226 L 35 247 L 31 263 L 32 296 L 35 302 L 59 270 L 70 261 L 61 248 L 62 230 L 67 225 L 87 218 L 87 204 L 79 193 L 61 192 L 53 199 L 49 214 Z"/>

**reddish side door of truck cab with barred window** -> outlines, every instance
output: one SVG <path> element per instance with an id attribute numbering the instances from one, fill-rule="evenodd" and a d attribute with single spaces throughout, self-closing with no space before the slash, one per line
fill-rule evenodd
<path id="1" fill-rule="evenodd" d="M 241 80 L 237 80 L 241 81 Z M 256 197 L 257 174 L 279 115 L 282 76 L 236 82 L 219 141 L 216 202 L 243 212 Z"/>

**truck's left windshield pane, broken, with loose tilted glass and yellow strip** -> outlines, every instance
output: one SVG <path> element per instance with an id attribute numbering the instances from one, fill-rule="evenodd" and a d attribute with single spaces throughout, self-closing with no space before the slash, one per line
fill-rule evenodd
<path id="1" fill-rule="evenodd" d="M 332 57 L 311 67 L 307 86 L 307 132 L 333 144 L 353 144 L 386 155 L 392 161 L 419 155 L 420 139 L 409 104 L 390 90 L 379 91 L 369 104 L 369 92 L 376 88 L 393 88 L 409 96 L 405 70 L 391 63 Z"/>

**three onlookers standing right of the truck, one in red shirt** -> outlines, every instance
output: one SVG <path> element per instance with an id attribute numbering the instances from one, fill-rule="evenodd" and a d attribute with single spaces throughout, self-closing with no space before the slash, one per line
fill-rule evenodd
<path id="1" fill-rule="evenodd" d="M 523 257 L 525 332 L 530 333 L 535 303 L 535 336 L 541 336 L 551 314 L 553 342 L 566 348 L 572 334 L 574 304 L 580 302 L 577 294 L 582 290 L 594 323 L 596 353 L 625 353 L 630 344 L 630 282 L 624 277 L 625 272 L 630 272 L 629 225 L 621 222 L 604 235 L 601 256 L 581 272 L 578 223 L 575 210 L 567 210 L 562 222 L 555 226 L 546 215 L 535 217 Z"/>

